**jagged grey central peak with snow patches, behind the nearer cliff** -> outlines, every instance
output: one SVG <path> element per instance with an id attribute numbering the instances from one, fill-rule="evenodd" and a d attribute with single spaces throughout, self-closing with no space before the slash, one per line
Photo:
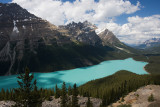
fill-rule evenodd
<path id="1" fill-rule="evenodd" d="M 82 42 L 93 46 L 102 46 L 100 37 L 95 33 L 96 26 L 88 21 L 83 23 L 72 22 L 65 26 L 59 26 L 59 32 L 68 35 L 72 41 Z"/>

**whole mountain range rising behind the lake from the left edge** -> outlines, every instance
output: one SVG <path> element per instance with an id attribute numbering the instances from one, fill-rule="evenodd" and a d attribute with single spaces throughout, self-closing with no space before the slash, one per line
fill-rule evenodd
<path id="1" fill-rule="evenodd" d="M 15 3 L 0 3 L 0 75 L 51 72 L 127 58 L 134 50 L 88 21 L 55 26 Z"/>

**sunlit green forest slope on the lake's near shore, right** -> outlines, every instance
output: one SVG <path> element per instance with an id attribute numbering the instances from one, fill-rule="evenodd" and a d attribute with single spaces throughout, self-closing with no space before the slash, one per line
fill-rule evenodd
<path id="1" fill-rule="evenodd" d="M 111 76 L 90 81 L 79 87 L 79 94 L 104 99 L 109 105 L 148 84 L 160 84 L 160 75 L 137 75 L 129 71 L 119 71 Z"/>

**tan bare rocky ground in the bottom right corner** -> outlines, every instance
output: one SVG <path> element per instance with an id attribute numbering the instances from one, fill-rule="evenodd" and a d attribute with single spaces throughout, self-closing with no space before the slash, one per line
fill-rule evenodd
<path id="1" fill-rule="evenodd" d="M 117 107 L 119 105 L 131 105 L 132 107 L 159 107 L 160 105 L 160 86 L 159 85 L 147 85 L 139 88 L 135 92 L 129 93 L 124 97 L 124 101 L 119 100 L 113 103 L 111 107 Z M 153 95 L 154 101 L 149 102 L 148 98 Z"/>

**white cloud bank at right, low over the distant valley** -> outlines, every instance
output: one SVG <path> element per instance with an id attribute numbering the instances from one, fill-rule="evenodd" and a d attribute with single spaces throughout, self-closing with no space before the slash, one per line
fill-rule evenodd
<path id="1" fill-rule="evenodd" d="M 128 44 L 139 44 L 150 38 L 160 38 L 160 15 L 149 17 L 128 17 L 128 23 L 118 25 L 114 22 L 103 23 L 100 28 L 106 27 L 113 31 L 118 38 Z"/>

